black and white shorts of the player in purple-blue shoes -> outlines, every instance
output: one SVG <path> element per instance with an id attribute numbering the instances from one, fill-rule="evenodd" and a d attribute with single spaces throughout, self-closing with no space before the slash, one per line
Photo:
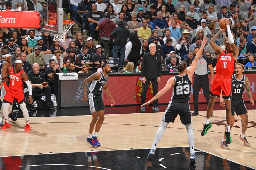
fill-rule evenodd
<path id="1" fill-rule="evenodd" d="M 97 96 L 93 93 L 89 93 L 88 101 L 91 113 L 105 110 L 105 106 L 102 100 L 102 96 Z"/>

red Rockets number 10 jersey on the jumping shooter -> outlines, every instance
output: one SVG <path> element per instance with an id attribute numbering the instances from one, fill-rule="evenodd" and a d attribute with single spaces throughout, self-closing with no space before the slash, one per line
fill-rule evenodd
<path id="1" fill-rule="evenodd" d="M 225 54 L 225 52 L 226 50 L 223 50 L 220 57 L 218 57 L 216 74 L 231 77 L 234 73 L 235 60 L 232 53 Z"/>

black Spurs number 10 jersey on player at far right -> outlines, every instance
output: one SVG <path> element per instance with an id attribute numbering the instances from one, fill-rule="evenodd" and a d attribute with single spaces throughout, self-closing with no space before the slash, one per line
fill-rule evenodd
<path id="1" fill-rule="evenodd" d="M 243 75 L 241 80 L 236 79 L 236 74 L 232 75 L 232 100 L 240 100 L 243 98 L 245 78 Z"/>

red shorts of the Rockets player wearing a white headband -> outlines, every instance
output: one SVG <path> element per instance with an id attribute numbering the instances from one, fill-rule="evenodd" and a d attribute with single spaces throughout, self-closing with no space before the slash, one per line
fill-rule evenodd
<path id="1" fill-rule="evenodd" d="M 17 91 L 17 90 L 8 89 L 4 96 L 4 102 L 12 103 L 14 99 L 16 99 L 19 104 L 22 103 L 23 101 L 26 103 L 23 90 Z"/>

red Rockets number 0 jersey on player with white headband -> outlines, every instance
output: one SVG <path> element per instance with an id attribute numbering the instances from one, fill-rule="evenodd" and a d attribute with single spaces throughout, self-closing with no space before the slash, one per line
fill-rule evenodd
<path id="1" fill-rule="evenodd" d="M 9 89 L 23 91 L 23 79 L 20 77 L 21 74 L 24 72 L 23 69 L 21 69 L 18 73 L 14 73 L 14 67 L 11 67 L 9 72 L 10 77 L 10 83 L 9 83 Z"/>

